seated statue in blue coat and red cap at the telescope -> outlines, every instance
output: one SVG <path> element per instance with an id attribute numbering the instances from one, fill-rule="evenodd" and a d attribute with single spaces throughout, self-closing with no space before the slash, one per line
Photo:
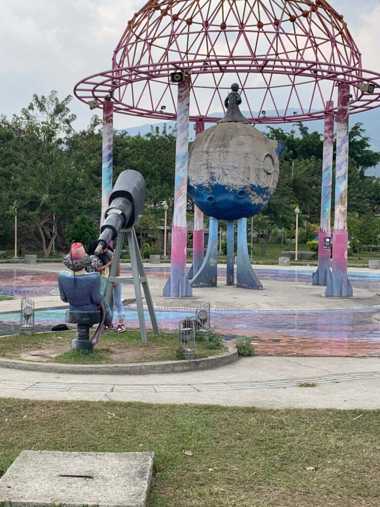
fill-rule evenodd
<path id="1" fill-rule="evenodd" d="M 86 272 L 86 267 L 91 264 L 91 259 L 85 252 L 82 243 L 73 242 L 71 244 L 70 252 L 65 257 L 63 263 L 70 272 L 61 271 L 58 274 L 58 287 L 61 300 L 69 303 L 70 311 L 88 312 L 101 310 L 102 318 L 100 323 L 109 325 L 112 322 L 113 315 L 104 298 L 106 284 L 103 284 L 101 280 L 104 277 L 98 272 Z M 106 278 L 104 280 L 107 281 Z M 96 343 L 98 339 L 99 337 L 97 336 Z M 92 342 L 94 345 L 96 344 L 94 343 L 94 339 Z"/>

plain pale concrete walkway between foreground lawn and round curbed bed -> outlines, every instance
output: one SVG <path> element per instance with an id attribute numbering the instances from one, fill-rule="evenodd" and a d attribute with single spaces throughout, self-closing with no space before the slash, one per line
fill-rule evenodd
<path id="1" fill-rule="evenodd" d="M 317 385 L 301 387 L 302 382 Z M 271 409 L 380 409 L 380 359 L 249 357 L 217 370 L 122 377 L 0 369 L 0 396 Z"/>

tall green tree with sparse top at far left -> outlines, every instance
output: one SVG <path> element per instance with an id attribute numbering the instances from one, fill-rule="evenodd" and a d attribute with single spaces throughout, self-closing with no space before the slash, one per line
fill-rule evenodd
<path id="1" fill-rule="evenodd" d="M 92 186 L 85 169 L 76 167 L 65 149 L 75 120 L 70 100 L 70 96 L 59 100 L 54 90 L 48 96 L 34 94 L 20 116 L 1 120 L 7 137 L 0 148 L 0 158 L 7 160 L 3 173 L 7 185 L 2 185 L 1 194 L 6 202 L 17 196 L 20 218 L 35 225 L 45 257 L 54 248 L 62 214 L 80 204 Z"/>

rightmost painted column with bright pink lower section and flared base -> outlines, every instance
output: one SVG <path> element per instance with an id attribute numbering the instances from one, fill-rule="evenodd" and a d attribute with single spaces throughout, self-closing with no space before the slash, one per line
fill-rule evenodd
<path id="1" fill-rule="evenodd" d="M 326 296 L 347 298 L 352 296 L 347 276 L 347 184 L 349 149 L 350 86 L 338 86 L 335 162 L 335 214 L 332 234 L 332 274 L 326 287 Z"/>

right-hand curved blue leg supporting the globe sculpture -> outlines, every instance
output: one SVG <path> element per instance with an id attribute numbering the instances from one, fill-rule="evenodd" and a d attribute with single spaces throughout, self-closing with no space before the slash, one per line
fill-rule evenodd
<path id="1" fill-rule="evenodd" d="M 238 261 L 236 270 L 236 286 L 262 290 L 260 280 L 253 271 L 248 253 L 247 219 L 238 220 Z"/>

